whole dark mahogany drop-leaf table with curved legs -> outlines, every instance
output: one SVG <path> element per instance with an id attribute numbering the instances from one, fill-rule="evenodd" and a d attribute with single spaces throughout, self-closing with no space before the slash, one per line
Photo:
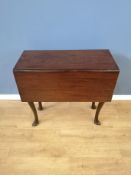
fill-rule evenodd
<path id="1" fill-rule="evenodd" d="M 111 101 L 119 68 L 109 50 L 24 51 L 16 63 L 14 76 L 22 102 L 34 113 L 34 102 L 42 110 L 44 102 L 99 102 L 94 123 L 100 125 L 99 112 Z"/>

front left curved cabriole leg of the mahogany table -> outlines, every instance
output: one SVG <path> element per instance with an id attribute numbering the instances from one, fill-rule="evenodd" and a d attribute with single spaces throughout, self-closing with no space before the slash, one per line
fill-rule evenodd
<path id="1" fill-rule="evenodd" d="M 34 105 L 34 102 L 28 102 L 33 114 L 34 114 L 34 122 L 32 123 L 32 126 L 37 126 L 39 124 L 39 120 L 38 120 L 38 114 Z"/>

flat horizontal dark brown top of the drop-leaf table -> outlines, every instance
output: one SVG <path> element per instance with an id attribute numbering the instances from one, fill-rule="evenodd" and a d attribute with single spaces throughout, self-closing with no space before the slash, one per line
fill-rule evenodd
<path id="1" fill-rule="evenodd" d="M 14 71 L 119 71 L 109 50 L 27 50 Z"/>

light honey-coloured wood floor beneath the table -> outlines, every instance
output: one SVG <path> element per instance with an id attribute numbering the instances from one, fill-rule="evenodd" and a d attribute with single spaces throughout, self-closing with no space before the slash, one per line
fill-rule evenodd
<path id="1" fill-rule="evenodd" d="M 131 101 L 105 103 L 101 127 L 91 103 L 43 106 L 33 128 L 26 103 L 0 101 L 1 175 L 131 174 Z"/>

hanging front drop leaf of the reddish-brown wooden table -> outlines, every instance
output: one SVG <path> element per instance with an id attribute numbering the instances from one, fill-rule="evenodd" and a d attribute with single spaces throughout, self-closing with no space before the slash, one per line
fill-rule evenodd
<path id="1" fill-rule="evenodd" d="M 26 101 L 111 101 L 118 72 L 14 72 Z"/>

